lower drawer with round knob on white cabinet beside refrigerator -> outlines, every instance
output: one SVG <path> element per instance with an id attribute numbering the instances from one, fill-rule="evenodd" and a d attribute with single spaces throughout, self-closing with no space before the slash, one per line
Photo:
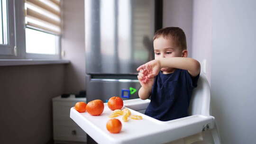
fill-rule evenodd
<path id="1" fill-rule="evenodd" d="M 79 126 L 54 125 L 54 140 L 86 142 L 86 138 Z"/>

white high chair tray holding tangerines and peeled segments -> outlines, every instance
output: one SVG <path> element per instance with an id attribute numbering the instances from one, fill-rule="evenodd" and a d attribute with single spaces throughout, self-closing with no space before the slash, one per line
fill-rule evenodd
<path id="1" fill-rule="evenodd" d="M 136 111 L 146 109 L 149 102 L 149 99 L 124 100 L 124 108 L 128 108 L 132 115 L 142 116 L 143 119 L 129 119 L 128 122 L 123 122 L 122 116 L 115 117 L 122 123 L 121 132 L 118 134 L 111 134 L 106 128 L 112 113 L 107 103 L 104 103 L 104 111 L 100 116 L 91 116 L 87 112 L 79 113 L 71 108 L 70 117 L 99 144 L 162 144 L 197 134 L 206 125 L 213 126 L 214 117 L 211 116 L 193 115 L 164 122 Z"/>

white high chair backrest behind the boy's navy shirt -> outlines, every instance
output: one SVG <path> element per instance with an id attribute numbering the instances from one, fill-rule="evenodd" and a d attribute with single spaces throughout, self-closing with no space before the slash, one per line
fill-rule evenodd
<path id="1" fill-rule="evenodd" d="M 210 115 L 210 85 L 204 74 L 200 74 L 197 87 L 190 100 L 189 115 Z"/>

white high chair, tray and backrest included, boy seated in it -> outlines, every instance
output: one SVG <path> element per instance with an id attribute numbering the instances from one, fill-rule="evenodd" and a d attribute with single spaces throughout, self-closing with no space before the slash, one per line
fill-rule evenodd
<path id="1" fill-rule="evenodd" d="M 142 115 L 143 120 L 124 122 L 119 134 L 106 130 L 112 112 L 106 108 L 107 103 L 99 117 L 79 113 L 74 108 L 70 117 L 99 144 L 220 144 L 215 118 L 210 116 L 210 85 L 204 75 L 201 74 L 198 87 L 193 90 L 191 116 L 159 121 L 143 115 L 149 103 L 149 99 L 124 100 L 124 107 L 133 115 Z"/>

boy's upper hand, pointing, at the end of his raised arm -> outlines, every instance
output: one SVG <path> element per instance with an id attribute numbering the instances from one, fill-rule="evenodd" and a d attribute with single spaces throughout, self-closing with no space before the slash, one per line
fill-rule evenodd
<path id="1" fill-rule="evenodd" d="M 151 79 L 154 78 L 160 71 L 161 64 L 158 60 L 153 60 L 150 62 L 147 62 L 137 68 L 137 71 L 143 70 L 146 71 L 146 78 Z"/>

